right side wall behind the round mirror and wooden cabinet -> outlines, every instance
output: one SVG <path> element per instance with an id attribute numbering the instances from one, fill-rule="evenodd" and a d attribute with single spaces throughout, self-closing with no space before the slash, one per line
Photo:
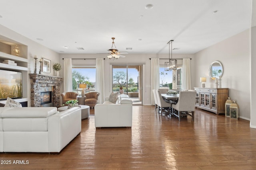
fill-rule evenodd
<path id="1" fill-rule="evenodd" d="M 222 87 L 229 88 L 229 96 L 237 100 L 240 118 L 250 120 L 250 30 L 243 31 L 220 43 L 212 45 L 196 55 L 196 84 L 200 87 L 200 77 L 205 76 L 206 87 L 214 87 L 208 75 L 213 61 L 223 64 Z"/>

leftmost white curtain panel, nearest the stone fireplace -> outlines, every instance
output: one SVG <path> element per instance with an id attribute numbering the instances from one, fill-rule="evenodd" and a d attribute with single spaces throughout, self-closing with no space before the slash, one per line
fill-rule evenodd
<path id="1" fill-rule="evenodd" d="M 64 92 L 72 92 L 72 59 L 64 59 Z"/>

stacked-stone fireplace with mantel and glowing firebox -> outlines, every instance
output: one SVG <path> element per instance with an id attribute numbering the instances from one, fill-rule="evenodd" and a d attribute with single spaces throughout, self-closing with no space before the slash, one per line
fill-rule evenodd
<path id="1" fill-rule="evenodd" d="M 31 107 L 60 106 L 60 83 L 62 77 L 29 74 Z"/>

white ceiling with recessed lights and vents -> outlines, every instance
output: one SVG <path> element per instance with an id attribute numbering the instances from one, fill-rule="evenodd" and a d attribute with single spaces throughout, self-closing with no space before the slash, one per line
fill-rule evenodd
<path id="1" fill-rule="evenodd" d="M 252 0 L 0 0 L 0 24 L 58 53 L 108 53 L 111 37 L 128 53 L 168 53 L 171 39 L 173 53 L 196 53 L 250 28 L 251 8 Z"/>

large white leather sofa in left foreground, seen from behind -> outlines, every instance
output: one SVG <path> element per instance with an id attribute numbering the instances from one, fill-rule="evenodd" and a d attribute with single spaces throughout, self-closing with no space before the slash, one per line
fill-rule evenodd
<path id="1" fill-rule="evenodd" d="M 0 152 L 60 152 L 80 131 L 79 107 L 0 107 Z"/>

